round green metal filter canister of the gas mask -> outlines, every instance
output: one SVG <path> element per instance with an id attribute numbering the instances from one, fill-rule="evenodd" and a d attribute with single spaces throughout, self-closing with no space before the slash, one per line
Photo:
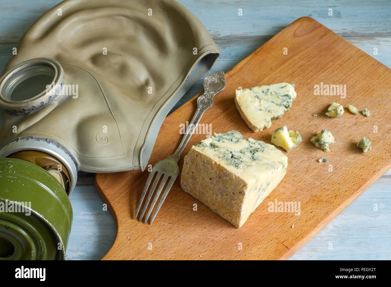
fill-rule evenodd
<path id="1" fill-rule="evenodd" d="M 61 260 L 72 224 L 65 189 L 47 171 L 0 159 L 0 260 Z"/>

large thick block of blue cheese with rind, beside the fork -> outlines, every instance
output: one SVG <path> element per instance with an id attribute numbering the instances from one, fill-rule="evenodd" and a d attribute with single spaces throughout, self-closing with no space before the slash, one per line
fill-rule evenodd
<path id="1" fill-rule="evenodd" d="M 271 144 L 232 130 L 192 146 L 181 187 L 232 225 L 240 227 L 285 176 L 288 158 Z"/>

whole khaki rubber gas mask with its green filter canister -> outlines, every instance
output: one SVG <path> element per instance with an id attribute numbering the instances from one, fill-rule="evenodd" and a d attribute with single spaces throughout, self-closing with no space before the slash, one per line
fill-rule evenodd
<path id="1" fill-rule="evenodd" d="M 144 170 L 218 56 L 175 1 L 67 0 L 39 18 L 0 78 L 0 259 L 65 259 L 77 171 Z"/>

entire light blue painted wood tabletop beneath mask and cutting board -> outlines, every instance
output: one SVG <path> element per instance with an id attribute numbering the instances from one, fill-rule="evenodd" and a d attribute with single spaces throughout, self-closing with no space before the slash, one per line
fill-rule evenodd
<path id="1" fill-rule="evenodd" d="M 301 16 L 309 16 L 391 68 L 391 2 L 383 1 L 212 1 L 179 0 L 212 35 L 221 56 L 211 72 L 227 71 Z M 0 69 L 20 37 L 58 0 L 0 0 Z M 333 16 L 328 9 L 333 9 Z M 242 9 L 243 16 L 238 16 Z M 378 54 L 373 54 L 377 48 Z M 199 80 L 178 102 L 203 89 Z M 2 118 L 0 117 L 0 124 Z M 389 136 L 389 134 L 388 134 Z M 379 147 L 380 148 L 380 147 Z M 391 170 L 365 191 L 294 259 L 391 259 Z M 74 221 L 68 259 L 100 259 L 115 239 L 115 225 L 93 186 L 93 174 L 79 172 L 70 195 Z M 377 210 L 374 206 L 377 205 Z"/>

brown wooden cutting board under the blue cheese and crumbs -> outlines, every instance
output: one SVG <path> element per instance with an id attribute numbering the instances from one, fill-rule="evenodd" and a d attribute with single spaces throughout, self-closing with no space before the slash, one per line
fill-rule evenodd
<path id="1" fill-rule="evenodd" d="M 294 21 L 226 73 L 226 89 L 215 96 L 213 107 L 201 119 L 212 125 L 213 132 L 235 129 L 245 138 L 266 143 L 271 143 L 273 130 L 283 125 L 300 131 L 300 146 L 283 151 L 288 171 L 280 184 L 236 228 L 182 191 L 179 176 L 149 225 L 134 218 L 148 171 L 97 174 L 95 186 L 117 222 L 117 238 L 103 259 L 289 258 L 391 168 L 390 79 L 389 68 L 317 21 L 308 17 Z M 272 121 L 270 128 L 252 132 L 235 107 L 235 89 L 280 82 L 296 85 L 291 110 Z M 346 85 L 346 98 L 314 95 L 314 85 L 321 82 Z M 149 164 L 176 150 L 182 138 L 179 124 L 191 120 L 197 96 L 167 116 Z M 325 115 L 332 102 L 345 107 L 341 118 Z M 348 104 L 360 111 L 368 108 L 371 116 L 350 113 Z M 329 153 L 310 143 L 322 129 L 330 130 L 336 139 Z M 372 143 L 368 153 L 356 148 L 364 135 Z M 179 161 L 180 170 L 184 155 L 205 137 L 192 136 Z M 320 157 L 328 162 L 319 163 Z M 300 202 L 300 215 L 269 212 L 268 203 L 276 200 Z"/>

